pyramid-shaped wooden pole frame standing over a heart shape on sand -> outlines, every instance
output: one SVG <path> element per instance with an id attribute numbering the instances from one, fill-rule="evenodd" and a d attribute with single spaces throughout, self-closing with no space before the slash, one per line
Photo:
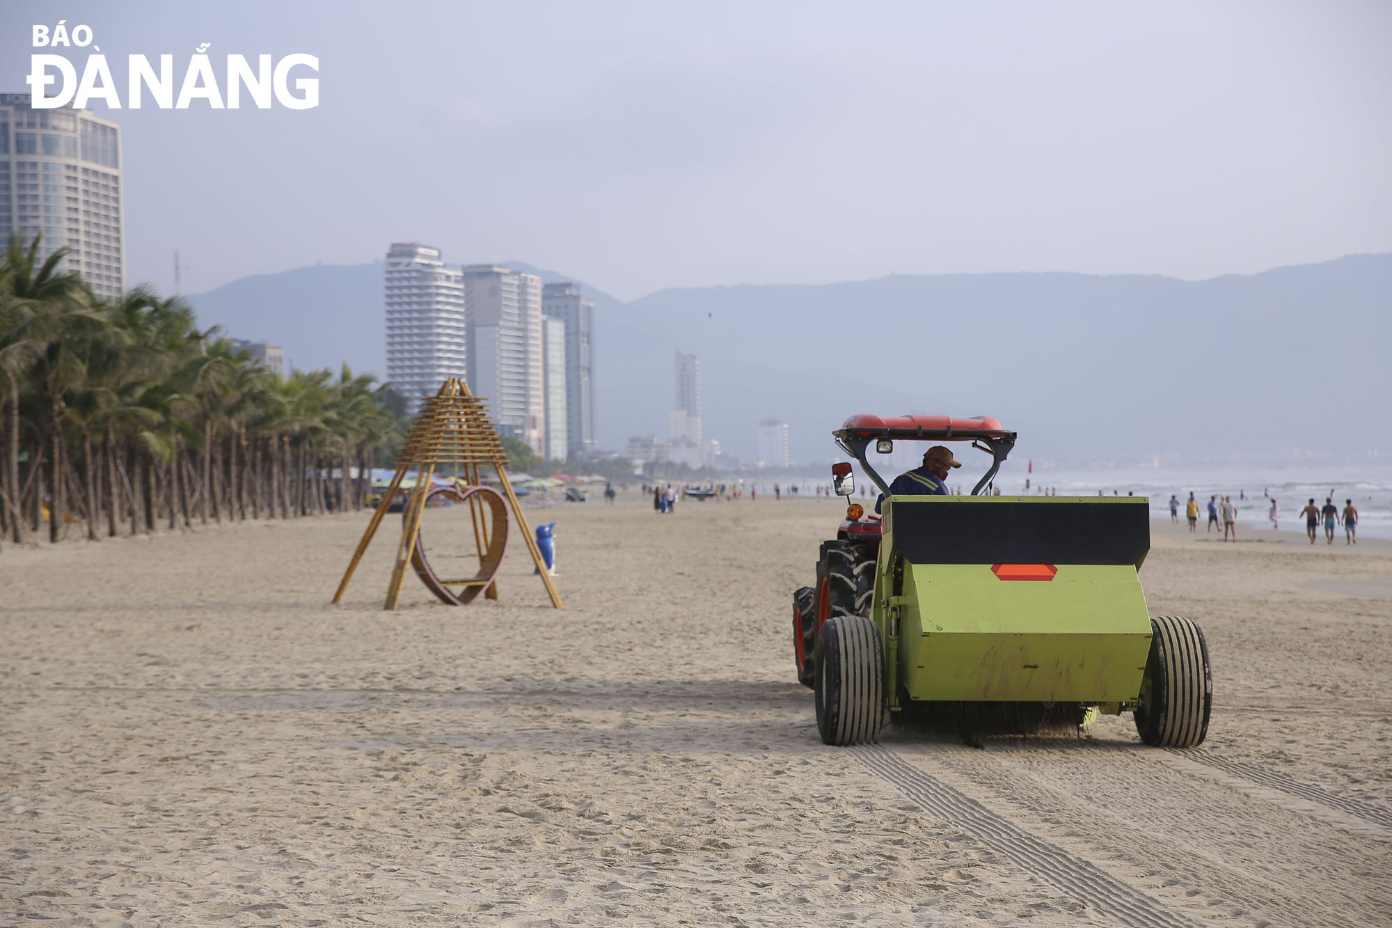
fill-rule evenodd
<path id="1" fill-rule="evenodd" d="M 405 527 L 401 532 L 401 542 L 397 545 L 397 563 L 391 571 L 391 581 L 387 584 L 387 602 L 383 605 L 383 609 L 388 610 L 397 608 L 397 599 L 401 596 L 401 584 L 406 575 L 406 564 L 411 563 L 416 538 L 420 534 L 420 516 L 425 511 L 426 495 L 430 489 L 430 479 L 434 475 L 436 465 L 459 464 L 464 467 L 468 481 L 473 485 L 479 484 L 480 467 L 493 467 L 497 471 L 498 484 L 503 485 L 503 492 L 507 495 L 508 504 L 512 509 L 512 518 L 516 520 L 518 527 L 522 529 L 522 539 L 526 542 L 528 550 L 532 552 L 532 560 L 541 575 L 546 592 L 551 596 L 551 605 L 562 609 L 561 594 L 555 591 L 555 584 L 551 582 L 551 571 L 541 559 L 541 550 L 536 546 L 536 538 L 532 536 L 532 528 L 526 524 L 522 506 L 518 503 L 516 493 L 512 492 L 512 482 L 508 481 L 507 470 L 504 470 L 507 460 L 508 454 L 503 450 L 503 442 L 498 439 L 493 422 L 489 421 L 483 400 L 469 393 L 469 385 L 464 380 L 450 378 L 441 383 L 438 393 L 425 399 L 420 412 L 416 415 L 415 422 L 411 424 L 406 444 L 397 454 L 397 472 L 393 475 L 387 492 L 381 495 L 381 502 L 372 514 L 372 521 L 367 523 L 367 531 L 363 532 L 362 541 L 358 542 L 358 550 L 354 552 L 352 560 L 348 563 L 348 570 L 344 571 L 344 578 L 338 584 L 338 592 L 334 594 L 334 602 L 337 603 L 342 599 L 344 589 L 348 588 L 348 581 L 352 580 L 354 570 L 358 569 L 358 563 L 367 550 L 367 545 L 372 543 L 372 536 L 377 534 L 377 527 L 381 525 L 381 518 L 387 514 L 391 500 L 397 497 L 397 490 L 401 489 L 401 482 L 405 479 L 406 471 L 415 467 L 416 492 L 411 493 L 406 504 Z M 479 514 L 472 504 L 469 511 L 475 520 L 475 541 L 479 542 L 479 550 L 483 552 L 489 543 L 487 528 L 484 527 L 480 535 Z M 505 531 L 507 525 L 503 528 Z M 497 529 L 497 525 L 494 525 L 494 529 Z M 496 598 L 494 589 L 496 587 L 490 588 L 490 598 Z"/>

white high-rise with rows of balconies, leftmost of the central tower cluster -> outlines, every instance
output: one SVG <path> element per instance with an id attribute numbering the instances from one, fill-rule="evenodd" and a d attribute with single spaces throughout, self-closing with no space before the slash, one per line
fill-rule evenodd
<path id="1" fill-rule="evenodd" d="M 448 378 L 468 376 L 464 279 L 440 249 L 395 242 L 387 251 L 387 379 L 411 415 Z"/>

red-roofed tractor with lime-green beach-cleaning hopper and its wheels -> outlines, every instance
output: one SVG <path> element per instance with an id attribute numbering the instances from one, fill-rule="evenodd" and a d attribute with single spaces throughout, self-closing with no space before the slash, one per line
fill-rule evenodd
<path id="1" fill-rule="evenodd" d="M 926 709 L 983 706 L 1066 709 L 1076 725 L 1132 712 L 1146 744 L 1203 743 L 1208 645 L 1190 619 L 1146 608 L 1147 497 L 992 492 L 1016 436 L 990 417 L 853 415 L 832 435 L 880 488 L 883 511 L 851 503 L 821 543 L 816 584 L 793 594 L 798 680 L 816 694 L 825 744 L 874 741 Z M 894 495 L 867 450 L 895 442 L 965 442 L 991 461 L 967 496 Z M 832 465 L 832 484 L 853 496 L 849 461 Z"/>

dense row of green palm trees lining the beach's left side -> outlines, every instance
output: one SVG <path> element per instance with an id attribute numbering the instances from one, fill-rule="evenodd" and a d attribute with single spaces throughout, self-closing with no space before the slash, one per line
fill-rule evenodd
<path id="1" fill-rule="evenodd" d="M 99 302 L 58 269 L 64 249 L 39 263 L 39 245 L 11 237 L 0 262 L 0 529 L 21 541 L 50 500 L 57 539 L 64 496 L 92 539 L 103 510 L 116 535 L 127 511 L 136 534 L 166 514 L 191 527 L 193 510 L 246 518 L 248 502 L 253 518 L 362 503 L 369 468 L 405 433 L 388 385 L 347 365 L 280 380 L 178 298 L 138 287 Z"/>

